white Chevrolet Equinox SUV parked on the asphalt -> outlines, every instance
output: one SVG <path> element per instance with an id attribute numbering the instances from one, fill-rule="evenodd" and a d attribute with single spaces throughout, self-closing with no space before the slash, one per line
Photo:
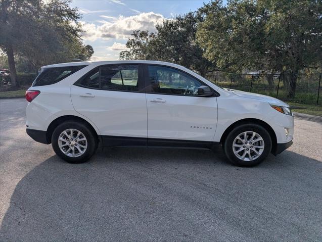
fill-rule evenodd
<path id="1" fill-rule="evenodd" d="M 213 149 L 254 166 L 292 144 L 289 106 L 223 89 L 182 66 L 157 61 L 44 66 L 26 91 L 27 133 L 71 163 L 98 146 Z"/>

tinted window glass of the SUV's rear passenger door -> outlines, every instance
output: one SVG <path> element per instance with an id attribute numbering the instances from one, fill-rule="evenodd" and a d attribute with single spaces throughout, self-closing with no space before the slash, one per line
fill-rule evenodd
<path id="1" fill-rule="evenodd" d="M 106 65 L 90 71 L 78 83 L 103 90 L 138 91 L 138 72 L 138 65 Z"/>

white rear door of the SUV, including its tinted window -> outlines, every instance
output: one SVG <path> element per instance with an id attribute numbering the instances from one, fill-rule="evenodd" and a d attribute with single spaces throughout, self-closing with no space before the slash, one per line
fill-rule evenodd
<path id="1" fill-rule="evenodd" d="M 71 87 L 71 99 L 75 110 L 94 122 L 105 140 L 115 141 L 114 146 L 133 137 L 139 138 L 134 139 L 135 144 L 145 145 L 147 104 L 143 86 L 141 65 L 104 65 Z"/>

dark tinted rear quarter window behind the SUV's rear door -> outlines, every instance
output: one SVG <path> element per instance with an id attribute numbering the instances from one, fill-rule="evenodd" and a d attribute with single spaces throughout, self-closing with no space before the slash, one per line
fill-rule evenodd
<path id="1" fill-rule="evenodd" d="M 55 84 L 84 67 L 86 67 L 86 65 L 53 67 L 44 69 L 33 81 L 32 86 L 45 86 Z"/>

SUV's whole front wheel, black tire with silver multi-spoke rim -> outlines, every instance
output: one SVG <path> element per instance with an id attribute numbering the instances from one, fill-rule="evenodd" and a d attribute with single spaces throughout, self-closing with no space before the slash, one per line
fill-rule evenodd
<path id="1" fill-rule="evenodd" d="M 271 147 L 271 137 L 265 128 L 258 124 L 242 124 L 227 135 L 223 149 L 234 165 L 252 167 L 268 156 Z"/>

